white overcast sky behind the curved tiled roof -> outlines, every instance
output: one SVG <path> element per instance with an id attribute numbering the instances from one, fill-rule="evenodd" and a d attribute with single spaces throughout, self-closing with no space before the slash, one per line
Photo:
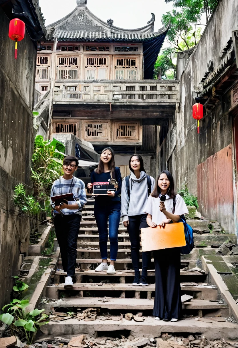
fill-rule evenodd
<path id="1" fill-rule="evenodd" d="M 76 0 L 40 0 L 40 7 L 48 25 L 68 15 L 76 7 Z M 88 0 L 87 7 L 104 22 L 112 18 L 113 25 L 125 29 L 145 26 L 153 12 L 154 31 L 162 27 L 161 15 L 173 8 L 164 0 Z"/>

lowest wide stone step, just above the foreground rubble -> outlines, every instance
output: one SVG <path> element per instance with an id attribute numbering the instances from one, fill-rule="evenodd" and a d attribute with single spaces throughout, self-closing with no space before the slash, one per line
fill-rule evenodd
<path id="1" fill-rule="evenodd" d="M 113 313 L 112 313 L 113 314 Z M 120 313 L 119 313 L 120 315 Z M 120 321 L 78 321 L 77 319 L 68 319 L 60 322 L 50 321 L 48 324 L 40 327 L 38 335 L 41 334 L 41 341 L 45 341 L 49 335 L 79 335 L 81 333 L 88 334 L 92 337 L 94 334 L 101 336 L 101 331 L 130 331 L 134 337 L 160 337 L 161 332 L 187 332 L 189 334 L 197 334 L 198 332 L 206 336 L 207 340 L 215 340 L 223 337 L 225 340 L 237 341 L 238 325 L 233 322 L 212 322 L 205 323 L 194 320 L 195 318 L 184 318 L 175 323 L 157 321 L 153 317 L 145 317 L 144 322 L 128 321 L 123 318 Z M 60 333 L 60 334 L 58 334 Z"/>

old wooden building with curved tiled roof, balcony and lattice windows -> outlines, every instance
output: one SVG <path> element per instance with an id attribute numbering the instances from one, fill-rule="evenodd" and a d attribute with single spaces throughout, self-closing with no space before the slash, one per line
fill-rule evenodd
<path id="1" fill-rule="evenodd" d="M 152 159 L 147 168 L 156 174 L 157 127 L 173 117 L 180 90 L 176 81 L 152 80 L 168 30 L 154 32 L 154 20 L 152 14 L 146 26 L 122 29 L 97 18 L 87 0 L 77 0 L 69 15 L 47 27 L 35 88 L 48 93 L 51 137 L 72 133 L 98 152 L 110 145 L 125 164 L 140 152 Z"/>

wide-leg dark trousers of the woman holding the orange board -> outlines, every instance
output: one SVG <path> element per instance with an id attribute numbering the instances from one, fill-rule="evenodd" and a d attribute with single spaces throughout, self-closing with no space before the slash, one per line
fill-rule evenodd
<path id="1" fill-rule="evenodd" d="M 170 320 L 182 314 L 180 248 L 154 251 L 156 291 L 153 315 Z"/>

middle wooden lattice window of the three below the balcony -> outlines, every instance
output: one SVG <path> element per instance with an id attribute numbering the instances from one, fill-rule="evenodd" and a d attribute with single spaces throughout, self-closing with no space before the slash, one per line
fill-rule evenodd
<path id="1" fill-rule="evenodd" d="M 83 121 L 84 139 L 90 141 L 108 140 L 108 122 L 105 121 Z"/>

